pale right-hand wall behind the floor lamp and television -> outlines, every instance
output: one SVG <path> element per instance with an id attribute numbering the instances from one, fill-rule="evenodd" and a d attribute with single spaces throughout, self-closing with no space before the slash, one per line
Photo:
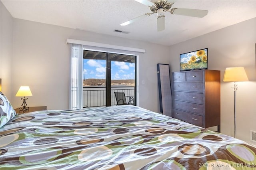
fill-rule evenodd
<path id="1" fill-rule="evenodd" d="M 223 82 L 226 67 L 245 68 L 249 81 L 238 82 L 236 91 L 237 138 L 250 141 L 256 131 L 256 18 L 178 43 L 170 47 L 171 71 L 179 71 L 181 53 L 208 47 L 208 69 L 221 71 L 221 132 L 234 136 L 232 82 Z"/>

